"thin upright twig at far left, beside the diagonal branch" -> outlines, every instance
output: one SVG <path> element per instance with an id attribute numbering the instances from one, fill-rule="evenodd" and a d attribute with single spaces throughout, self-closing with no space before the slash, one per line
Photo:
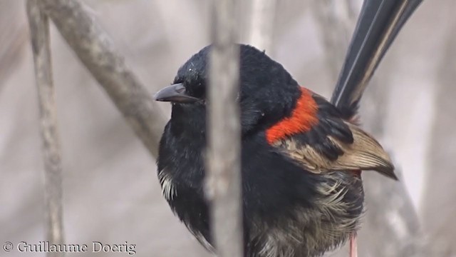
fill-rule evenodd
<path id="1" fill-rule="evenodd" d="M 52 81 L 49 23 L 48 17 L 40 11 L 37 3 L 38 0 L 27 1 L 27 14 L 35 62 L 43 140 L 46 239 L 49 243 L 58 245 L 63 244 L 61 147 L 57 131 L 56 102 Z M 47 256 L 61 257 L 64 256 L 64 253 L 50 252 Z"/>

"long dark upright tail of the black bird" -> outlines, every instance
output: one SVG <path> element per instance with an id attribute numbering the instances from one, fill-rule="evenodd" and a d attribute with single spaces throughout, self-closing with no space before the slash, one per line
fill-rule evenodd
<path id="1" fill-rule="evenodd" d="M 331 103 L 352 117 L 366 85 L 405 21 L 422 0 L 365 0 Z"/>

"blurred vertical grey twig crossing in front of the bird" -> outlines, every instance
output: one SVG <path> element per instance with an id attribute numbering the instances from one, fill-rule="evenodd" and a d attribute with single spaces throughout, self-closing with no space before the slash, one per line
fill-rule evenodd
<path id="1" fill-rule="evenodd" d="M 214 1 L 212 10 L 207 196 L 212 206 L 211 232 L 219 257 L 244 256 L 235 5 L 234 0 Z"/>

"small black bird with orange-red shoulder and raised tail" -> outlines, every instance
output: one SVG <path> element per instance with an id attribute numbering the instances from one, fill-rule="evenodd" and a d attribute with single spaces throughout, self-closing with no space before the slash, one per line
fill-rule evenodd
<path id="1" fill-rule="evenodd" d="M 356 234 L 363 213 L 361 171 L 397 179 L 388 153 L 354 119 L 364 86 L 411 14 L 394 4 L 401 1 L 386 1 L 390 9 L 383 11 L 384 5 L 372 6 L 378 2 L 363 5 L 333 104 L 299 86 L 263 51 L 239 45 L 244 256 L 321 256 Z M 204 196 L 210 50 L 185 62 L 155 99 L 172 103 L 157 159 L 162 193 L 213 250 Z"/>

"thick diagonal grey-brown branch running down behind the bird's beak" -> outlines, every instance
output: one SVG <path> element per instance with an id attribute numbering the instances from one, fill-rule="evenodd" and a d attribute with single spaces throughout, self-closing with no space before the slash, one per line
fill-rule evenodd
<path id="1" fill-rule="evenodd" d="M 103 86 L 152 156 L 157 156 L 165 117 L 149 92 L 128 69 L 110 37 L 79 1 L 41 0 L 38 5 L 53 20 L 63 38 Z"/>

